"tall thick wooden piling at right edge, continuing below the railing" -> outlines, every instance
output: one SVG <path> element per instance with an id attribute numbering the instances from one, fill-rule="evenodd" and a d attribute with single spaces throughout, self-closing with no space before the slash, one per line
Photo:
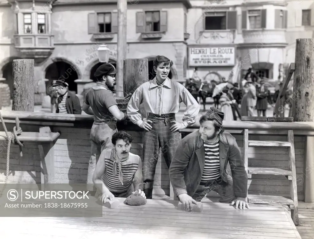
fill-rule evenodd
<path id="1" fill-rule="evenodd" d="M 292 117 L 296 122 L 314 121 L 314 39 L 296 39 L 295 72 L 293 82 L 295 99 Z M 314 202 L 314 136 L 306 136 L 305 202 Z"/>

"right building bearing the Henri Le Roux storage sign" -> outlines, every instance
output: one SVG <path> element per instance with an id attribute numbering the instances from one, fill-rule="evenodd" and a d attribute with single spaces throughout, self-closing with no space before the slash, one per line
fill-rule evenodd
<path id="1" fill-rule="evenodd" d="M 239 81 L 252 66 L 261 78 L 282 80 L 295 61 L 295 40 L 313 38 L 314 2 L 307 0 L 191 1 L 185 31 L 188 73 Z"/>

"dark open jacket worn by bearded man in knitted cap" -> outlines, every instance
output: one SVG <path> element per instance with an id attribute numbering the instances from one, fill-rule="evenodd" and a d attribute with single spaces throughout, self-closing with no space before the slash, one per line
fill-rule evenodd
<path id="1" fill-rule="evenodd" d="M 220 177 L 227 181 L 227 163 L 229 162 L 233 191 L 236 197 L 247 196 L 247 173 L 236 139 L 230 133 L 219 134 Z M 175 197 L 187 193 L 193 196 L 202 178 L 205 164 L 205 149 L 199 131 L 184 137 L 169 167 L 169 177 Z"/>

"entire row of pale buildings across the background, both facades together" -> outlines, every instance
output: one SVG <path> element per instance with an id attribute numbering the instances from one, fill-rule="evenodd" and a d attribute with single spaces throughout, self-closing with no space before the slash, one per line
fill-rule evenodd
<path id="1" fill-rule="evenodd" d="M 130 0 L 127 8 L 126 55 L 149 59 L 149 79 L 154 57 L 165 55 L 181 82 L 194 68 L 201 79 L 237 81 L 249 66 L 282 80 L 295 40 L 314 37 L 312 0 Z M 14 59 L 35 59 L 35 87 L 63 78 L 73 91 L 75 79 L 94 79 L 100 44 L 116 62 L 117 1 L 0 0 L 0 19 L 0 77 L 11 92 Z"/>

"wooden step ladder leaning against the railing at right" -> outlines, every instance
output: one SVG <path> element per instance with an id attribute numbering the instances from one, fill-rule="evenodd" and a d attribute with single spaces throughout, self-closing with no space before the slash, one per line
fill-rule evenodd
<path id="1" fill-rule="evenodd" d="M 265 117 L 266 118 L 266 117 Z M 248 167 L 248 150 L 249 147 L 278 147 L 288 148 L 289 167 L 288 170 L 280 168 L 257 168 Z M 253 204 L 282 204 L 288 205 L 291 210 L 291 218 L 295 225 L 299 224 L 298 215 L 298 195 L 296 184 L 296 172 L 295 172 L 295 147 L 293 130 L 288 130 L 288 141 L 257 141 L 249 140 L 248 129 L 244 130 L 243 140 L 243 153 L 245 169 L 248 178 L 252 178 L 252 175 L 284 175 L 290 183 L 290 198 L 283 196 L 271 196 L 271 195 L 247 195 L 248 203 Z"/>

